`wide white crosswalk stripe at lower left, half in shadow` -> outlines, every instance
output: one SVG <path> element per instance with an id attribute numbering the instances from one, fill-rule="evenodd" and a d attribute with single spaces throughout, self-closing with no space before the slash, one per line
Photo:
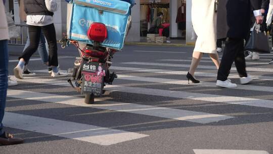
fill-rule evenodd
<path id="1" fill-rule="evenodd" d="M 149 136 L 140 133 L 11 112 L 5 113 L 3 124 L 6 127 L 76 139 L 99 145 L 112 145 Z"/>

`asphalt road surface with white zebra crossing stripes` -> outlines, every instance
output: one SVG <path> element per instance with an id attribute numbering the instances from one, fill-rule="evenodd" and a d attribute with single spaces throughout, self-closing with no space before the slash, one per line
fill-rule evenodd
<path id="1" fill-rule="evenodd" d="M 23 47 L 10 46 L 10 75 Z M 37 76 L 9 87 L 5 130 L 24 144 L 0 146 L 0 153 L 273 153 L 273 54 L 247 60 L 254 81 L 238 88 L 216 88 L 217 70 L 204 55 L 196 78 L 186 74 L 193 47 L 125 46 L 114 55 L 118 74 L 93 105 L 51 78 L 34 55 Z M 74 47 L 59 48 L 62 70 L 73 67 Z M 219 53 L 221 57 L 222 53 Z M 14 76 L 12 76 L 14 78 Z"/>

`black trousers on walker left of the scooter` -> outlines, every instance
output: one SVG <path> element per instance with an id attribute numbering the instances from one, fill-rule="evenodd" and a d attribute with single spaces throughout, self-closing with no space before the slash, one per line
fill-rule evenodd
<path id="1" fill-rule="evenodd" d="M 30 44 L 19 57 L 19 60 L 23 58 L 26 62 L 28 62 L 30 57 L 36 52 L 40 41 L 41 31 L 49 44 L 49 66 L 58 66 L 58 48 L 54 24 L 46 26 L 28 25 Z"/>

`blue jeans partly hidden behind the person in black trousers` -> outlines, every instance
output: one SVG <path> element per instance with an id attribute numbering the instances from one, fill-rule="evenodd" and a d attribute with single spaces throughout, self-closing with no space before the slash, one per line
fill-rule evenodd
<path id="1" fill-rule="evenodd" d="M 25 51 L 27 49 L 29 44 L 30 44 L 29 33 L 27 32 L 27 42 L 26 42 L 26 45 L 25 45 L 25 48 L 24 48 L 23 51 Z M 44 35 L 43 35 L 42 32 L 41 32 L 41 35 L 40 35 L 40 41 L 39 41 L 38 49 L 36 51 L 38 51 L 43 64 L 49 62 L 49 54 L 48 54 L 47 48 L 45 47 L 45 38 L 44 38 Z M 27 63 L 28 63 L 28 61 L 26 61 L 26 64 Z"/>

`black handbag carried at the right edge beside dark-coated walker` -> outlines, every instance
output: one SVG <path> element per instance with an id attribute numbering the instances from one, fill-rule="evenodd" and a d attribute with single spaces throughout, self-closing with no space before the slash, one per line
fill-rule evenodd
<path id="1" fill-rule="evenodd" d="M 266 32 L 257 29 L 257 23 L 254 24 L 250 32 L 250 37 L 246 43 L 245 50 L 264 54 L 270 53 Z"/>

